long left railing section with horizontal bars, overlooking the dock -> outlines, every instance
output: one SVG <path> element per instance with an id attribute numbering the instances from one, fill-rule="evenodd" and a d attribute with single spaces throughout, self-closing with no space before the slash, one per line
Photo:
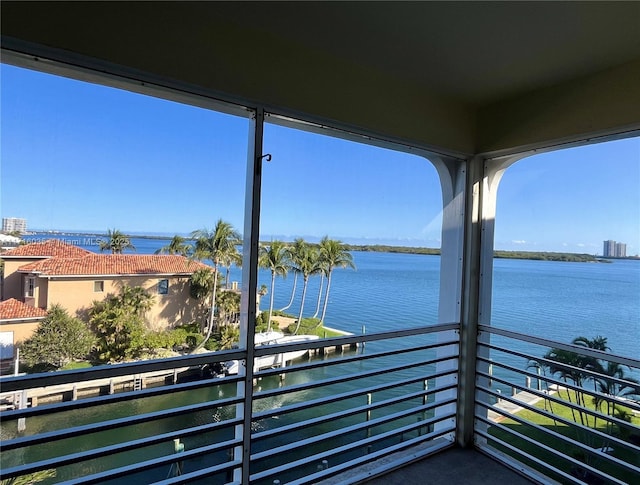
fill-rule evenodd
<path id="1" fill-rule="evenodd" d="M 261 346 L 256 357 L 310 357 L 258 370 L 251 383 L 208 374 L 244 351 L 6 378 L 2 397 L 15 409 L 1 417 L 2 478 L 311 483 L 396 467 L 453 442 L 457 329 Z M 407 449 L 421 451 L 395 458 Z"/>

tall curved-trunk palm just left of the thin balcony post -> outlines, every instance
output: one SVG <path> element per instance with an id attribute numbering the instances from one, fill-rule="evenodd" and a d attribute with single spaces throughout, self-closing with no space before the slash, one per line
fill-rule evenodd
<path id="1" fill-rule="evenodd" d="M 213 230 L 200 229 L 193 231 L 191 237 L 195 239 L 194 257 L 204 260 L 209 259 L 213 262 L 214 278 L 213 278 L 213 290 L 211 297 L 211 311 L 209 312 L 209 321 L 207 323 L 207 333 L 204 340 L 198 345 L 195 350 L 204 347 L 205 343 L 211 337 L 211 331 L 213 330 L 213 319 L 216 308 L 216 289 L 218 284 L 218 270 L 220 264 L 226 261 L 225 258 L 229 257 L 233 251 L 236 251 L 236 246 L 240 244 L 240 233 L 234 229 L 234 227 L 222 219 L 219 219 Z"/>

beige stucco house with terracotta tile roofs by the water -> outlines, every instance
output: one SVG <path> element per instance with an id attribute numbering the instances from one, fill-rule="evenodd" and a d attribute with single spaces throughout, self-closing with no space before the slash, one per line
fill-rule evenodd
<path id="1" fill-rule="evenodd" d="M 92 302 L 119 293 L 123 285 L 141 286 L 154 297 L 145 315 L 152 330 L 196 319 L 200 308 L 189 296 L 189 277 L 211 269 L 184 256 L 95 254 L 56 239 L 20 246 L 1 258 L 2 300 L 44 310 L 57 303 L 86 318 Z"/>

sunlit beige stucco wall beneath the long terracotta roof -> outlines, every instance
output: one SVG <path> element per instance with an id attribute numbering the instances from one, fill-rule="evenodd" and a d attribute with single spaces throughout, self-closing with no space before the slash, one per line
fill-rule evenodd
<path id="1" fill-rule="evenodd" d="M 158 292 L 159 283 L 164 279 L 168 280 L 166 295 Z M 119 294 L 124 284 L 141 286 L 153 296 L 153 307 L 145 315 L 151 330 L 189 323 L 201 314 L 198 302 L 189 296 L 188 276 L 51 278 L 46 285 L 47 307 L 58 303 L 70 314 L 86 320 L 87 311 L 94 301 Z"/>

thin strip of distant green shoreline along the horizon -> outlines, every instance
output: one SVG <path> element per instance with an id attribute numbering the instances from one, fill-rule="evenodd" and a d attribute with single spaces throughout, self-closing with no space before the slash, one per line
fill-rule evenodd
<path id="1" fill-rule="evenodd" d="M 37 231 L 34 232 L 38 236 L 51 235 L 53 237 L 60 236 L 93 236 L 106 237 L 106 234 L 97 232 L 63 232 L 63 231 Z M 148 234 L 127 234 L 130 238 L 135 239 L 156 239 L 171 240 L 172 236 L 154 236 Z M 188 239 L 188 236 L 185 236 Z M 264 241 L 268 244 L 269 241 Z M 400 254 L 421 254 L 427 256 L 439 256 L 440 249 L 425 248 L 416 246 L 391 246 L 385 244 L 345 244 L 347 251 L 362 251 L 376 253 L 400 253 Z M 496 259 L 527 259 L 534 261 L 564 261 L 577 263 L 612 263 L 616 259 L 640 260 L 638 256 L 627 256 L 626 258 L 605 258 L 603 256 L 593 256 L 585 253 L 559 253 L 553 251 L 504 251 L 495 250 L 493 257 Z"/>

